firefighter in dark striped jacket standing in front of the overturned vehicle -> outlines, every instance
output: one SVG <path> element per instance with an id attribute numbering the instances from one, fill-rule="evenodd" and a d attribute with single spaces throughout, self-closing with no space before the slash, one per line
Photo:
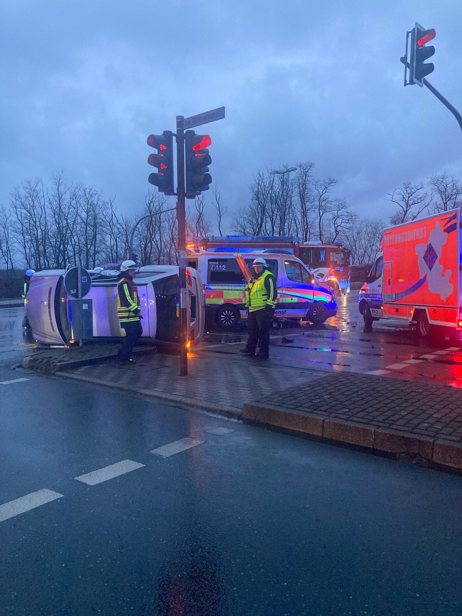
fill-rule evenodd
<path id="1" fill-rule="evenodd" d="M 140 300 L 138 290 L 133 284 L 133 277 L 137 272 L 136 263 L 128 259 L 120 266 L 119 282 L 117 285 L 117 316 L 120 326 L 125 330 L 125 337 L 118 359 L 123 364 L 136 363 L 131 358 L 133 347 L 139 341 L 143 328 L 140 318 Z"/>

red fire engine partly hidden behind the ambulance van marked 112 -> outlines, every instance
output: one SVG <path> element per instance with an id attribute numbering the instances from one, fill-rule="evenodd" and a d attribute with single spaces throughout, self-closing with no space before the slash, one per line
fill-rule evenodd
<path id="1" fill-rule="evenodd" d="M 187 246 L 209 252 L 293 254 L 308 267 L 316 282 L 330 286 L 334 295 L 350 292 L 349 251 L 341 242 L 304 242 L 299 237 L 266 235 L 225 235 L 187 238 Z"/>

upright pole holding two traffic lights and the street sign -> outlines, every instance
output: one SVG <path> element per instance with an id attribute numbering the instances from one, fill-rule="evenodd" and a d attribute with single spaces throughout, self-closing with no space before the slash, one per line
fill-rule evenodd
<path id="1" fill-rule="evenodd" d="M 184 116 L 176 116 L 178 267 L 180 277 L 180 376 L 188 375 L 188 311 L 186 288 L 186 210 L 184 177 Z"/>

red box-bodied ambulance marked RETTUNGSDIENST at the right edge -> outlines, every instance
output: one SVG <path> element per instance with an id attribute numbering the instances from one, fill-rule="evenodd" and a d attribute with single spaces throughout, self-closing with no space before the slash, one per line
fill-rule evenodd
<path id="1" fill-rule="evenodd" d="M 359 294 L 365 326 L 402 319 L 423 338 L 451 328 L 462 339 L 461 232 L 460 209 L 385 229 Z"/>

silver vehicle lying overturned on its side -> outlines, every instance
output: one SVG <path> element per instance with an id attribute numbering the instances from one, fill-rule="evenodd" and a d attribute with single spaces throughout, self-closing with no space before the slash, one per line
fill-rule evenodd
<path id="1" fill-rule="evenodd" d="M 179 343 L 180 285 L 176 265 L 145 265 L 134 277 L 143 317 L 142 340 Z M 91 288 L 83 300 L 92 307 L 92 338 L 124 336 L 117 317 L 115 270 L 90 270 Z M 44 270 L 31 277 L 26 310 L 32 334 L 39 344 L 73 344 L 71 298 L 64 286 L 65 270 Z M 188 346 L 198 344 L 204 333 L 204 298 L 198 272 L 187 269 Z"/>

